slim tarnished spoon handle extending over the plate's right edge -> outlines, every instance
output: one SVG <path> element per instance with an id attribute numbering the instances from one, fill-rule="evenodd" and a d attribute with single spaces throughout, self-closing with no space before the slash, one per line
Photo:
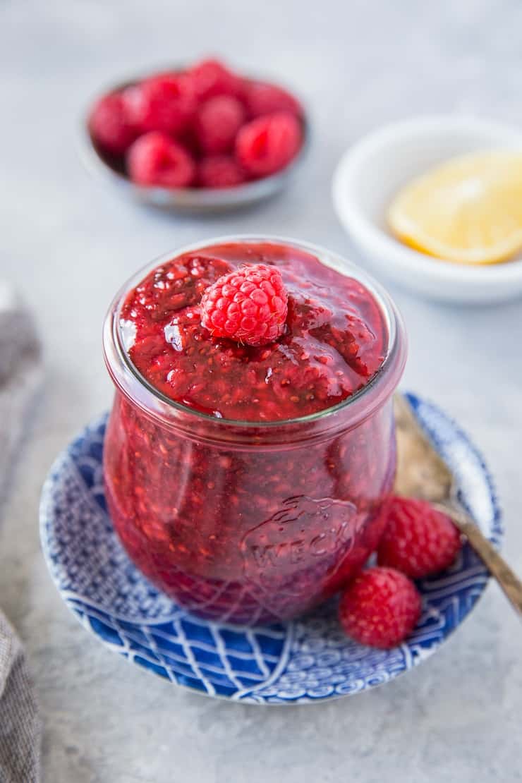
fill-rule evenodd
<path id="1" fill-rule="evenodd" d="M 457 511 L 454 507 L 441 505 L 440 503 L 433 503 L 433 505 L 439 511 L 442 511 L 443 514 L 447 514 L 448 517 L 452 518 L 460 532 L 468 539 L 470 546 L 484 561 L 484 564 L 491 572 L 491 576 L 495 577 L 506 594 L 508 601 L 511 602 L 520 619 L 522 619 L 522 582 L 509 568 L 504 558 L 499 555 L 495 547 L 463 511 Z"/>

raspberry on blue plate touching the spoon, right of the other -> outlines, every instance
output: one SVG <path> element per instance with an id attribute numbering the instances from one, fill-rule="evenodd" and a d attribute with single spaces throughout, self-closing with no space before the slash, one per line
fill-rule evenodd
<path id="1" fill-rule="evenodd" d="M 461 547 L 459 531 L 425 500 L 394 497 L 380 539 L 379 565 L 419 579 L 452 565 Z"/>

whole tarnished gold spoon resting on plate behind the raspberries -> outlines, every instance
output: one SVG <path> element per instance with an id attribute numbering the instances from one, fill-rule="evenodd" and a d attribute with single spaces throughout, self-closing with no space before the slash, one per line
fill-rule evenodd
<path id="1" fill-rule="evenodd" d="M 394 396 L 394 409 L 397 432 L 395 493 L 429 500 L 439 511 L 448 514 L 522 618 L 522 582 L 460 506 L 452 471 L 434 449 L 403 395 Z"/>

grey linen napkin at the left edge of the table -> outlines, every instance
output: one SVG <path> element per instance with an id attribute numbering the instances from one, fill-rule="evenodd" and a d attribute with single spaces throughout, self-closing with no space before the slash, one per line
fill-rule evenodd
<path id="1" fill-rule="evenodd" d="M 0 282 L 0 512 L 40 377 L 40 346 L 31 316 L 13 289 Z M 0 783 L 38 783 L 40 738 L 23 647 L 0 610 Z"/>

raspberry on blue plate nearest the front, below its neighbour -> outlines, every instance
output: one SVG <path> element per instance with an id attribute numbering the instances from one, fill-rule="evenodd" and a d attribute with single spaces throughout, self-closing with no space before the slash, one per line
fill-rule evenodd
<path id="1" fill-rule="evenodd" d="M 411 579 L 394 568 L 369 568 L 344 590 L 339 619 L 355 641 L 386 650 L 409 636 L 421 607 Z"/>

